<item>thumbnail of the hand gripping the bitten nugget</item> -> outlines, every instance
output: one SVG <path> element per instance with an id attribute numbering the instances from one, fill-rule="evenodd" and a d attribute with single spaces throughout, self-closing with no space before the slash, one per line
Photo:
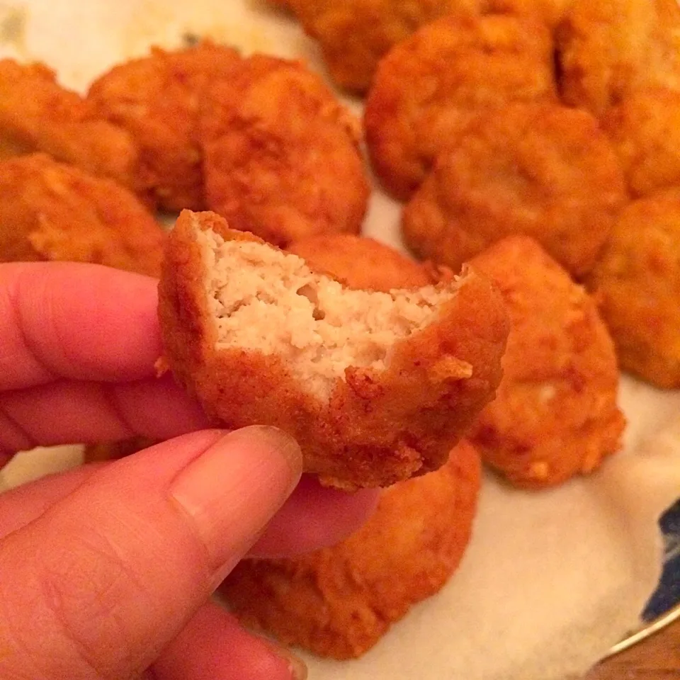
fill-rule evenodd
<path id="1" fill-rule="evenodd" d="M 301 472 L 302 452 L 290 435 L 251 426 L 218 439 L 175 478 L 171 497 L 208 551 L 215 586 L 283 505 Z"/>

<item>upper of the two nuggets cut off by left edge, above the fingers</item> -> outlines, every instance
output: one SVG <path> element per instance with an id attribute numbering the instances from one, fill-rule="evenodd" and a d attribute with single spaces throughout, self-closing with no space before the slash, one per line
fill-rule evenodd
<path id="1" fill-rule="evenodd" d="M 137 147 L 128 132 L 62 88 L 54 72 L 42 64 L 0 60 L 0 158 L 33 152 L 128 186 L 137 166 Z"/>

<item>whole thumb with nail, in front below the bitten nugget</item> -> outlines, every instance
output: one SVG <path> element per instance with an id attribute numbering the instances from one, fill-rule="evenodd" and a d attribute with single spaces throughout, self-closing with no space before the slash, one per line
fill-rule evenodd
<path id="1" fill-rule="evenodd" d="M 0 677 L 137 676 L 300 477 L 284 433 L 202 431 L 109 465 L 0 541 Z"/>

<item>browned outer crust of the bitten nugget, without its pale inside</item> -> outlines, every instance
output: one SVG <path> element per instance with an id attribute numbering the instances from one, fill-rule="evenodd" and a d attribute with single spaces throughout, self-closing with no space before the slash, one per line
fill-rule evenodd
<path id="1" fill-rule="evenodd" d="M 159 285 L 166 361 L 215 421 L 229 428 L 278 426 L 300 443 L 307 472 L 353 489 L 436 470 L 493 398 L 508 319 L 498 293 L 474 271 L 435 322 L 395 344 L 385 370 L 348 368 L 322 402 L 278 356 L 215 351 L 196 229 L 227 240 L 259 239 L 232 231 L 214 213 L 184 211 L 166 249 Z M 471 377 L 448 370 L 460 361 L 472 366 Z"/>

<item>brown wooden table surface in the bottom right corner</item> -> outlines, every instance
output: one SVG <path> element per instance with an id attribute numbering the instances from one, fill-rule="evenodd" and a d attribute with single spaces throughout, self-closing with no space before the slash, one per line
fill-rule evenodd
<path id="1" fill-rule="evenodd" d="M 606 659 L 585 680 L 680 680 L 680 620 Z"/>

